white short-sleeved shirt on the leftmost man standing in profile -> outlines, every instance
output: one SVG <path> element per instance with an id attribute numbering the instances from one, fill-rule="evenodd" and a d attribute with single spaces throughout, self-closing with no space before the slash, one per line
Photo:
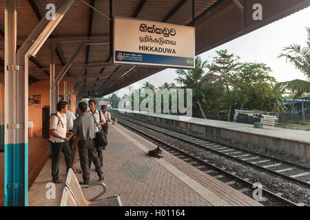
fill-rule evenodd
<path id="1" fill-rule="evenodd" d="M 56 117 L 56 115 L 53 115 L 50 118 L 50 129 L 54 129 L 57 135 L 65 138 L 67 134 L 67 119 L 63 115 L 61 115 L 59 111 L 57 111 L 57 115 L 59 115 L 59 117 Z M 58 118 L 61 119 L 61 122 L 58 121 Z M 57 143 L 64 142 L 64 140 L 61 140 L 52 135 L 50 135 L 50 141 L 57 142 Z"/>

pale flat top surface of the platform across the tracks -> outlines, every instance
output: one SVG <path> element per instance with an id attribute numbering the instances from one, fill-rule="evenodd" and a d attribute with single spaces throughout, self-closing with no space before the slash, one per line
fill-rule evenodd
<path id="1" fill-rule="evenodd" d="M 118 111 L 118 109 L 113 109 L 114 111 Z M 119 111 L 122 112 L 123 110 Z M 167 115 L 161 113 L 151 113 L 151 112 L 143 112 L 143 111 L 130 111 L 126 110 L 128 113 L 136 113 L 141 115 L 149 115 L 156 118 L 165 118 L 169 120 L 177 120 L 181 122 L 188 122 L 193 124 L 205 125 L 205 126 L 213 126 L 220 129 L 228 129 L 232 131 L 240 131 L 243 133 L 254 133 L 256 135 L 261 135 L 265 137 L 276 137 L 283 140 L 293 140 L 296 142 L 302 142 L 310 144 L 310 131 L 300 131 L 293 129 L 282 129 L 273 126 L 264 126 L 263 129 L 254 128 L 253 124 L 242 124 L 236 122 L 224 122 L 219 120 L 209 120 L 203 118 L 189 118 L 185 116 L 178 115 Z"/>

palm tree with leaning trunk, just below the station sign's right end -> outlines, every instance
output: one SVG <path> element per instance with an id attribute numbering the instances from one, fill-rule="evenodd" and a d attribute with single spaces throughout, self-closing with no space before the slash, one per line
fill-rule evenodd
<path id="1" fill-rule="evenodd" d="M 176 74 L 178 74 L 176 82 L 184 85 L 183 88 L 193 89 L 193 99 L 198 102 L 200 113 L 203 118 L 207 118 L 200 103 L 200 100 L 202 100 L 205 96 L 203 94 L 203 82 L 207 80 L 205 67 L 207 67 L 207 61 L 203 61 L 200 56 L 196 56 L 194 69 L 189 69 L 187 71 L 184 69 L 176 70 Z"/>

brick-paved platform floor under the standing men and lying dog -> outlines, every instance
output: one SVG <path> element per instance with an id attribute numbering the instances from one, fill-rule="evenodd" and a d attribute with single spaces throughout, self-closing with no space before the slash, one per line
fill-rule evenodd
<path id="1" fill-rule="evenodd" d="M 121 125 L 109 126 L 109 144 L 103 151 L 104 197 L 120 195 L 123 206 L 262 206 L 238 190 L 203 173 L 163 150 L 163 157 L 149 157 L 156 146 Z M 80 168 L 76 153 L 74 168 Z M 46 199 L 51 159 L 45 164 L 29 191 L 29 206 L 59 206 L 64 184 L 56 184 L 56 198 Z M 60 177 L 65 179 L 65 162 L 60 162 Z M 79 181 L 82 174 L 76 174 Z M 91 170 L 91 181 L 98 176 Z M 83 188 L 86 198 L 99 188 Z"/>

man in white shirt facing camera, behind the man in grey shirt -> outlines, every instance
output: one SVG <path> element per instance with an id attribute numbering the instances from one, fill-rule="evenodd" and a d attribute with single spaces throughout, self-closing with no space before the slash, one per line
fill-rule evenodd
<path id="1" fill-rule="evenodd" d="M 98 126 L 96 126 L 96 136 L 99 135 L 99 129 L 101 128 L 101 125 L 105 124 L 105 117 L 101 111 L 98 111 L 96 109 L 96 100 L 88 100 L 88 106 L 90 107 L 89 113 L 94 116 L 94 120 L 96 120 Z M 99 146 L 98 143 L 96 143 L 96 151 L 98 153 L 98 157 L 101 162 L 101 166 L 103 166 L 103 155 L 102 155 L 103 146 Z M 88 155 L 88 167 L 90 168 L 92 164 L 92 155 Z"/>

